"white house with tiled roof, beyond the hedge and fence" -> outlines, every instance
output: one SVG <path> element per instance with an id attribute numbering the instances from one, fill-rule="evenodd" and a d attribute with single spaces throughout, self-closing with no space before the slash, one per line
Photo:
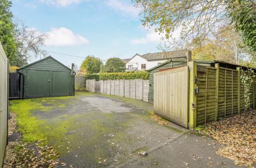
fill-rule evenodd
<path id="1" fill-rule="evenodd" d="M 175 50 L 160 53 L 135 54 L 130 59 L 123 59 L 126 71 L 148 70 L 171 58 L 187 58 L 188 50 Z"/>

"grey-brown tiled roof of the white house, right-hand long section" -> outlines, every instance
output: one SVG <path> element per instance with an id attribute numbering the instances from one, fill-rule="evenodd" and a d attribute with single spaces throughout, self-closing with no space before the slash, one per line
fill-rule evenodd
<path id="1" fill-rule="evenodd" d="M 187 50 L 175 50 L 175 51 L 166 51 L 159 53 L 147 53 L 142 55 L 147 61 L 161 60 L 161 59 L 171 59 L 171 58 L 186 58 Z"/>

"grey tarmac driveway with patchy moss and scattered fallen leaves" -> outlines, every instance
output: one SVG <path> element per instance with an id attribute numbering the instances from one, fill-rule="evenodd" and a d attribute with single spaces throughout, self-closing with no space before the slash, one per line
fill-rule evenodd
<path id="1" fill-rule="evenodd" d="M 66 167 L 234 167 L 212 139 L 152 120 L 147 102 L 85 92 L 30 102 L 42 105 L 31 110 L 37 129 Z"/>

